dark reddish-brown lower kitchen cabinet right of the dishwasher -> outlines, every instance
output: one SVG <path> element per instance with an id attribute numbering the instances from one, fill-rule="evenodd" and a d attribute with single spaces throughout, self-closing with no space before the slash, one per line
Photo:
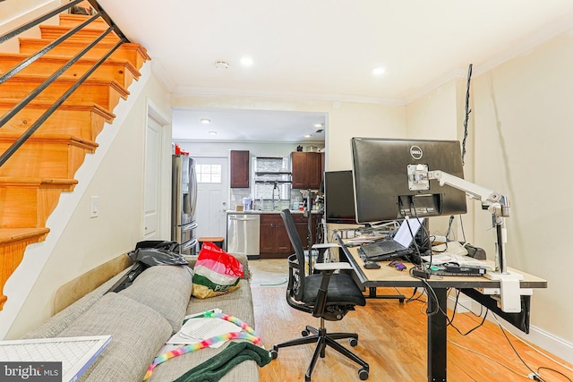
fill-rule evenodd
<path id="1" fill-rule="evenodd" d="M 308 246 L 308 220 L 304 214 L 293 214 L 296 232 L 303 242 L 303 247 Z M 316 241 L 316 215 L 312 215 L 312 241 Z M 261 259 L 286 259 L 295 253 L 290 243 L 283 219 L 279 214 L 261 215 Z"/>

